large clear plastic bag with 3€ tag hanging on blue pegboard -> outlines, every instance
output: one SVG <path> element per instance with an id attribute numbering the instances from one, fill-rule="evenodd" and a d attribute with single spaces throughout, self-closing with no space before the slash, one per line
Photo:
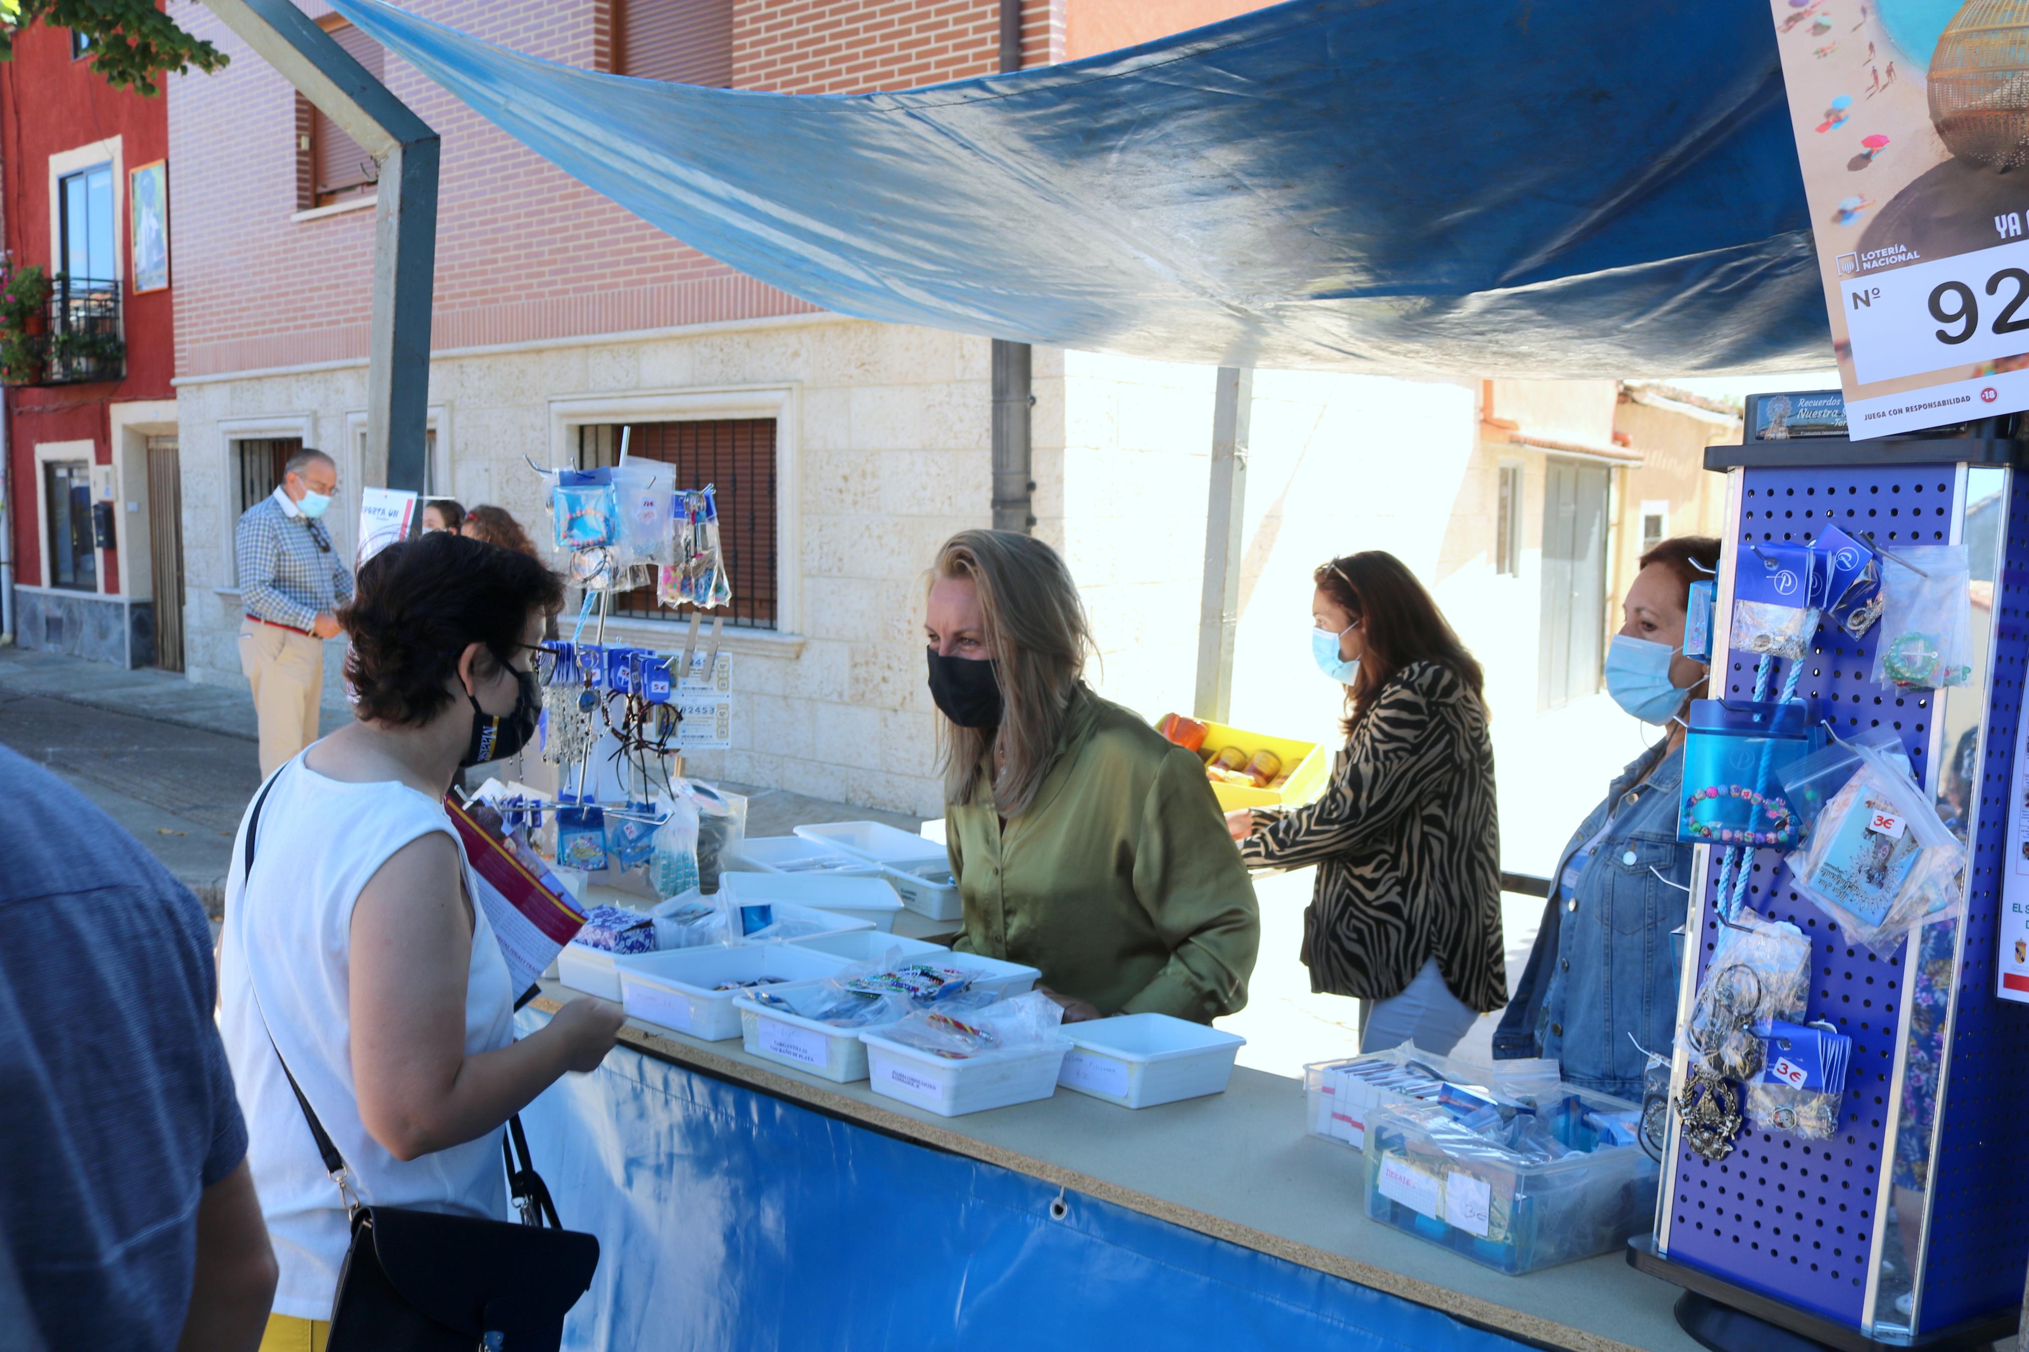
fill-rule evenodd
<path id="1" fill-rule="evenodd" d="M 1938 819 L 1907 760 L 1848 744 L 1857 764 L 1783 863 L 1804 900 L 1848 938 L 1891 957 L 1926 916 L 1964 904 L 1966 847 Z"/>

